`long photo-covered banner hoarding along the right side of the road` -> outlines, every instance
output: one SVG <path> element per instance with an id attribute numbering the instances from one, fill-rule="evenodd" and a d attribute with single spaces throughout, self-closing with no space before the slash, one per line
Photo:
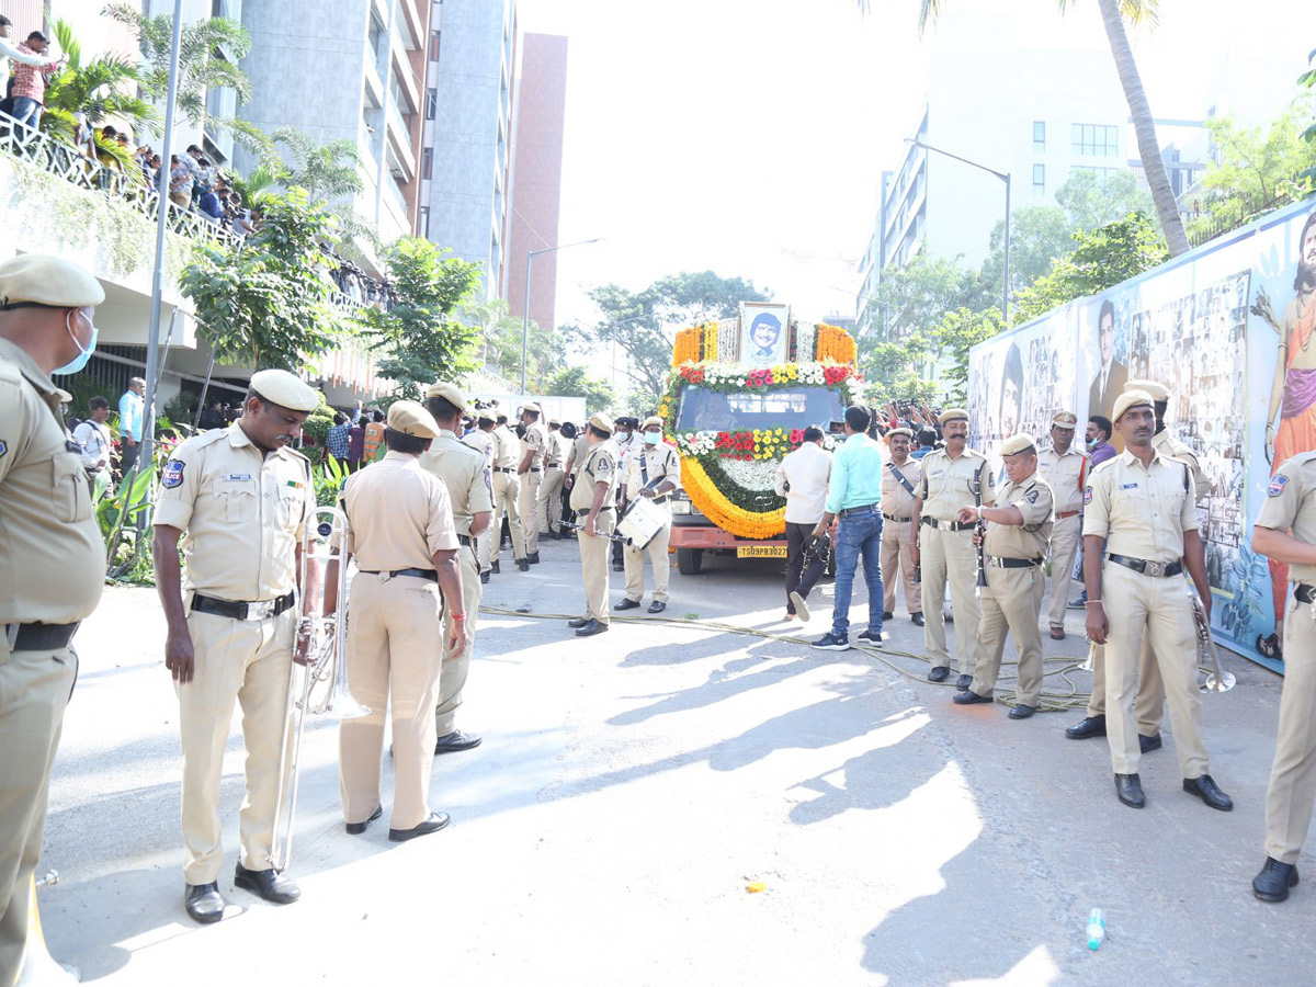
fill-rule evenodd
<path id="1" fill-rule="evenodd" d="M 1303 242 L 1307 254 L 1303 254 Z M 1198 505 L 1216 641 L 1275 671 L 1287 567 L 1252 551 L 1274 467 L 1316 449 L 1316 203 L 1308 199 L 973 349 L 970 442 L 1111 416 L 1128 380 L 1170 388 L 1166 428 L 1211 482 Z M 1288 359 L 1280 365 L 1280 340 Z M 1309 350 L 1309 355 L 1308 355 Z M 1274 429 L 1274 438 L 1267 434 Z"/>

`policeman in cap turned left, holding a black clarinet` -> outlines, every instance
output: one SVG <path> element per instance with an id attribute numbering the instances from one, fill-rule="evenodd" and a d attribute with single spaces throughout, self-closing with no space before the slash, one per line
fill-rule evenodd
<path id="1" fill-rule="evenodd" d="M 1053 499 L 1051 488 L 1037 472 L 1037 446 L 1032 436 L 1007 438 L 1000 454 L 1009 482 L 996 492 L 996 505 L 959 508 L 961 521 L 987 522 L 982 536 L 987 586 L 978 624 L 974 680 L 954 701 L 969 705 L 992 700 L 1008 630 L 1019 650 L 1019 690 L 1009 719 L 1026 720 L 1037 712 L 1042 692 L 1042 636 L 1037 617 L 1046 588 L 1042 563 L 1051 534 Z M 975 533 L 975 542 L 978 537 Z"/>

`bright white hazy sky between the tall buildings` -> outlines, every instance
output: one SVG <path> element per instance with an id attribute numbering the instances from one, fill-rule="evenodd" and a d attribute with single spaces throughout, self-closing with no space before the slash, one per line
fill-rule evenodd
<path id="1" fill-rule="evenodd" d="M 709 267 L 807 318 L 853 315 L 879 175 L 923 108 L 917 0 L 871 0 L 866 16 L 854 0 L 519 4 L 522 30 L 570 38 L 559 242 L 605 237 L 558 254 L 559 324 L 591 318 L 596 284 Z M 1065 17 L 1055 0 L 946 0 L 944 17 L 970 5 L 1108 50 L 1096 0 Z M 1154 113 L 1204 112 L 1196 89 L 1225 38 L 1295 63 L 1316 45 L 1309 4 L 1248 9 L 1162 0 L 1159 28 L 1136 38 Z"/>

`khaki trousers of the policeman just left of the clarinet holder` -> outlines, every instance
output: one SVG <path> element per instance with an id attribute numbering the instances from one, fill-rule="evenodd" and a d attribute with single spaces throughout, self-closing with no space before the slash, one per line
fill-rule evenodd
<path id="1" fill-rule="evenodd" d="M 923 641 L 933 667 L 950 667 L 946 650 L 946 583 L 950 583 L 950 605 L 955 611 L 955 658 L 959 675 L 974 674 L 978 647 L 978 620 L 982 611 L 974 591 L 978 588 L 978 549 L 973 530 L 944 532 L 923 526 Z"/>

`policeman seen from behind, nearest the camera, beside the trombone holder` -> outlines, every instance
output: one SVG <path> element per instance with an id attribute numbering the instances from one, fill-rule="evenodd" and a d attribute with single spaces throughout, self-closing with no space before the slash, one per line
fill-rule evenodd
<path id="1" fill-rule="evenodd" d="M 434 766 L 434 707 L 445 653 L 466 644 L 462 571 L 443 482 L 420 466 L 438 425 L 415 401 L 396 401 L 384 429 L 387 453 L 343 484 L 347 555 L 357 576 L 347 599 L 347 680 L 366 716 L 338 730 L 338 788 L 347 833 L 359 836 L 383 815 L 379 774 L 386 712 L 392 715 L 393 842 L 437 833 L 446 812 L 429 808 Z M 330 563 L 325 579 L 337 583 Z M 336 600 L 326 601 L 326 609 Z M 443 611 L 451 620 L 445 630 Z"/>

